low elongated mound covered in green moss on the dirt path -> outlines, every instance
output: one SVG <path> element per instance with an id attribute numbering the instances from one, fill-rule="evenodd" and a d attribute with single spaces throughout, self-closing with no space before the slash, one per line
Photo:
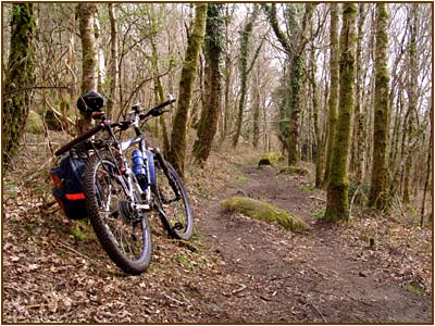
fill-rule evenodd
<path id="1" fill-rule="evenodd" d="M 303 231 L 309 229 L 304 221 L 289 212 L 279 210 L 270 203 L 245 197 L 233 197 L 221 202 L 222 208 L 231 212 L 238 212 L 246 216 L 265 221 L 268 223 L 277 223 L 285 229 L 291 231 Z"/>

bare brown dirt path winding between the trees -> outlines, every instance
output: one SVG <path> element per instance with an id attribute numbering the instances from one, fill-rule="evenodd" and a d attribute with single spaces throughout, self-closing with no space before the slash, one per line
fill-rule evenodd
<path id="1" fill-rule="evenodd" d="M 427 296 L 407 291 L 390 275 L 383 252 L 345 226 L 318 223 L 321 195 L 303 191 L 302 177 L 240 166 L 243 185 L 229 186 L 196 208 L 197 227 L 223 260 L 234 290 L 210 305 L 209 323 L 430 323 Z M 260 199 L 304 218 L 302 235 L 223 212 L 232 196 Z M 207 300 L 204 300 L 207 305 Z M 201 309 L 202 310 L 202 309 Z"/>

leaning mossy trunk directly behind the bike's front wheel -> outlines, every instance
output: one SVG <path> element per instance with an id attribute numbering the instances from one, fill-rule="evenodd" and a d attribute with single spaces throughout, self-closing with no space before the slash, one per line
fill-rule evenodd
<path id="1" fill-rule="evenodd" d="M 189 115 L 194 82 L 198 70 L 198 58 L 206 33 L 207 3 L 196 4 L 196 16 L 192 33 L 186 49 L 179 80 L 178 105 L 175 111 L 171 134 L 171 150 L 167 160 L 173 164 L 178 174 L 184 176 L 186 156 L 187 120 Z"/>

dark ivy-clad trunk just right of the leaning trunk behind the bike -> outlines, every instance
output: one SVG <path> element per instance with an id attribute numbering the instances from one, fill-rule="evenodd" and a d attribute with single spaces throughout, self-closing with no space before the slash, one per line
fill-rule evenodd
<path id="1" fill-rule="evenodd" d="M 194 160 L 202 166 L 209 158 L 211 145 L 217 130 L 222 99 L 222 68 L 224 50 L 223 4 L 211 3 L 208 7 L 204 36 L 206 52 L 206 103 L 198 125 L 194 143 Z"/>

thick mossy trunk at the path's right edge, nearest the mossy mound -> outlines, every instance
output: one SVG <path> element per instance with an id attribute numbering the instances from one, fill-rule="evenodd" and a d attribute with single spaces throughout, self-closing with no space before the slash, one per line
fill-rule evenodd
<path id="1" fill-rule="evenodd" d="M 338 118 L 330 166 L 324 216 L 326 221 L 347 221 L 349 218 L 348 158 L 355 102 L 356 16 L 356 4 L 344 3 L 340 34 Z"/>

